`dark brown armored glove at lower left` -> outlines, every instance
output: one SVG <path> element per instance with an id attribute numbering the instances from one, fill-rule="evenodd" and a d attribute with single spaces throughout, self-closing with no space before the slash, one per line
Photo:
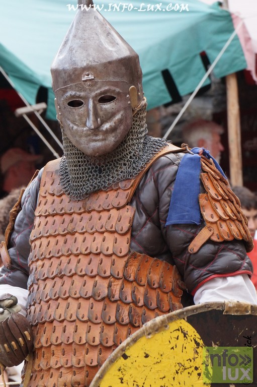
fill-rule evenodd
<path id="1" fill-rule="evenodd" d="M 17 302 L 11 294 L 0 296 L 0 363 L 5 367 L 22 363 L 33 348 L 29 321 Z"/>

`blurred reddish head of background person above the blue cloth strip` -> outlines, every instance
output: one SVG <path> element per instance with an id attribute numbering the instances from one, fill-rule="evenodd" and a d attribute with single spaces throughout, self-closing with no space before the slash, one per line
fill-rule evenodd
<path id="1" fill-rule="evenodd" d="M 214 159 L 220 163 L 221 152 L 224 147 L 221 144 L 220 135 L 223 128 L 216 122 L 198 119 L 186 124 L 183 127 L 183 141 L 190 148 L 199 147 L 210 151 Z"/>

